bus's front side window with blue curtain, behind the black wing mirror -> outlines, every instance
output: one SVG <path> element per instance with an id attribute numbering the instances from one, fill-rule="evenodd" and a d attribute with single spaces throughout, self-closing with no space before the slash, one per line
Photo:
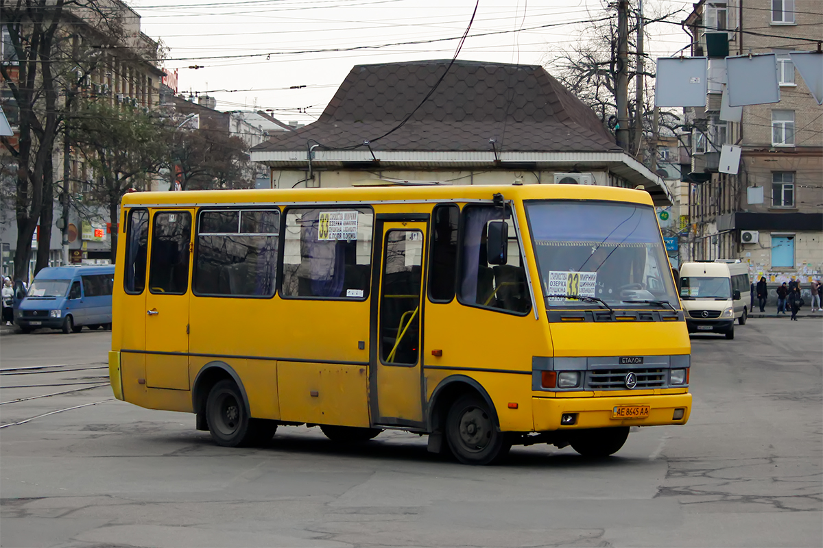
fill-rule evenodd
<path id="1" fill-rule="evenodd" d="M 499 220 L 506 220 L 509 225 L 508 261 L 492 266 L 487 260 L 486 237 L 489 223 Z M 526 271 L 508 209 L 504 214 L 500 207 L 464 207 L 460 257 L 459 302 L 522 315 L 532 310 Z"/>

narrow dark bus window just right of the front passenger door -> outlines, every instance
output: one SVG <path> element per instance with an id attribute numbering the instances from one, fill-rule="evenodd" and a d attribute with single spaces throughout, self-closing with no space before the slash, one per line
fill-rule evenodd
<path id="1" fill-rule="evenodd" d="M 429 258 L 429 299 L 451 302 L 458 270 L 458 221 L 460 208 L 437 205 L 432 214 Z"/>

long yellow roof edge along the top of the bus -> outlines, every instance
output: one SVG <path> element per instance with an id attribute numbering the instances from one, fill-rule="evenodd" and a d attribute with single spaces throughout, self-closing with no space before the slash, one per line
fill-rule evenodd
<path id="1" fill-rule="evenodd" d="M 138 205 L 253 205 L 260 203 L 378 203 L 381 201 L 491 200 L 502 194 L 506 200 L 610 200 L 653 205 L 649 192 L 594 185 L 415 185 L 249 189 L 226 191 L 132 192 L 123 196 L 124 207 Z M 390 182 L 386 182 L 390 183 Z"/>

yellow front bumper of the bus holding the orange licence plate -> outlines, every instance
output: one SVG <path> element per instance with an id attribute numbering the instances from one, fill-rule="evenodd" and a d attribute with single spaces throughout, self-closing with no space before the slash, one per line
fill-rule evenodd
<path id="1" fill-rule="evenodd" d="M 537 432 L 576 430 L 578 428 L 607 428 L 609 426 L 686 424 L 691 412 L 691 394 L 621 396 L 615 398 L 535 397 L 532 398 L 532 409 L 534 413 L 534 430 Z M 637 413 L 645 416 L 625 417 Z M 680 413 L 682 413 L 682 418 L 675 419 L 674 417 Z M 564 415 L 574 416 L 574 422 L 562 424 L 561 419 Z"/>

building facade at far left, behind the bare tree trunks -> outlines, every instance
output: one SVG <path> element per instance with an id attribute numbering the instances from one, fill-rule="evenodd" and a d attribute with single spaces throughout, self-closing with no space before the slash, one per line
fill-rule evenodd
<path id="1" fill-rule="evenodd" d="M 18 144 L 18 106 L 10 89 L 10 81 L 16 83 L 20 71 L 12 30 L 0 21 L 2 50 L 0 58 L 7 72 L 2 82 L 2 110 L 14 135 L 9 137 L 12 146 Z M 26 22 L 21 24 L 19 35 L 25 35 Z M 56 33 L 56 46 L 51 53 L 59 87 L 57 108 L 70 117 L 72 104 L 94 100 L 123 108 L 154 109 L 160 101 L 160 82 L 164 71 L 157 65 L 158 43 L 140 30 L 140 16 L 119 0 L 107 0 L 94 4 L 67 4 Z M 38 84 L 39 85 L 39 84 Z M 35 104 L 35 109 L 44 108 Z M 55 188 L 52 218 L 63 219 L 67 210 L 68 260 L 70 262 L 107 261 L 110 256 L 111 225 L 108 214 L 98 206 L 85 203 L 95 174 L 83 157 L 71 146 L 64 146 L 63 132 L 53 148 L 51 168 Z M 69 140 L 69 145 L 71 144 Z M 66 154 L 67 153 L 67 154 Z M 67 162 L 64 158 L 67 155 Z M 0 241 L 2 241 L 2 271 L 12 274 L 12 257 L 16 251 L 17 224 L 14 211 L 13 182 L 16 163 L 6 147 L 0 147 L 2 182 L 4 191 L 0 211 Z M 6 196 L 6 194 L 9 194 Z M 68 203 L 67 208 L 64 204 Z M 44 205 L 49 207 L 49 205 Z M 40 227 L 35 230 L 34 249 Z M 42 245 L 42 242 L 40 242 Z M 52 228 L 49 244 L 49 265 L 61 265 L 63 235 L 59 228 Z M 32 254 L 34 255 L 34 254 Z M 30 259 L 30 273 L 34 257 Z"/>

